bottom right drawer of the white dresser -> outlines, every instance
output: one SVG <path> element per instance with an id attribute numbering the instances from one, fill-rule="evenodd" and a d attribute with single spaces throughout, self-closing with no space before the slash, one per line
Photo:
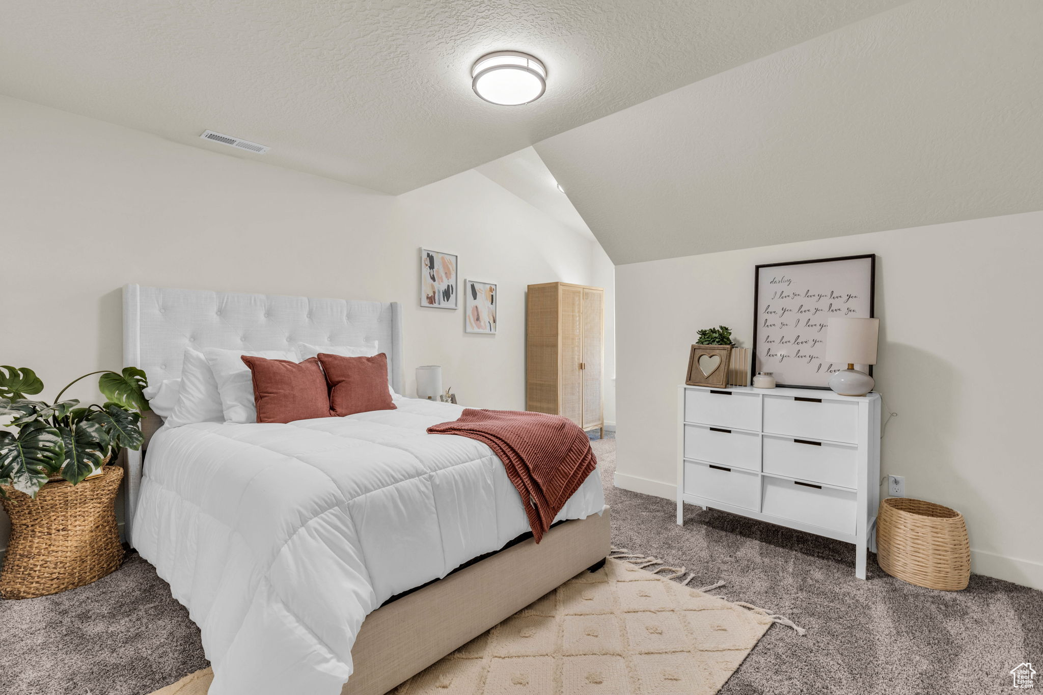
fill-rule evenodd
<path id="1" fill-rule="evenodd" d="M 855 494 L 763 476 L 763 514 L 854 533 Z"/>

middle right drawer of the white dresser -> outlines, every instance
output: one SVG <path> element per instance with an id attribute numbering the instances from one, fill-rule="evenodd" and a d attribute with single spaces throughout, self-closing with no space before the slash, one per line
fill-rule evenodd
<path id="1" fill-rule="evenodd" d="M 841 488 L 858 487 L 856 447 L 766 435 L 763 452 L 766 473 Z"/>

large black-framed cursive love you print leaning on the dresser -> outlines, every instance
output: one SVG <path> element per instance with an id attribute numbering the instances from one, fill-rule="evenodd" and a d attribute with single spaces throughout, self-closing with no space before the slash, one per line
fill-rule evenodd
<path id="1" fill-rule="evenodd" d="M 825 358 L 829 317 L 873 318 L 876 254 L 757 266 L 751 372 L 780 387 L 828 389 L 847 365 Z M 869 365 L 855 369 L 872 374 Z"/>

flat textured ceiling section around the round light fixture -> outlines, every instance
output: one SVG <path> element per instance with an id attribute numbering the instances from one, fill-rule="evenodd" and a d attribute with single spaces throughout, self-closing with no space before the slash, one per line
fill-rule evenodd
<path id="1" fill-rule="evenodd" d="M 0 93 L 401 193 L 893 7 L 895 0 L 33 0 L 4 5 Z M 547 96 L 468 70 L 528 50 Z M 265 155 L 200 141 L 210 128 Z"/>

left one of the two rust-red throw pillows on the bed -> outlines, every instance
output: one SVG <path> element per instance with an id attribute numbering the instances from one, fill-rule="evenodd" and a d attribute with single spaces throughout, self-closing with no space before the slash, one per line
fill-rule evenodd
<path id="1" fill-rule="evenodd" d="M 329 418 L 330 392 L 319 361 L 301 363 L 243 355 L 253 377 L 258 422 L 293 422 Z"/>

